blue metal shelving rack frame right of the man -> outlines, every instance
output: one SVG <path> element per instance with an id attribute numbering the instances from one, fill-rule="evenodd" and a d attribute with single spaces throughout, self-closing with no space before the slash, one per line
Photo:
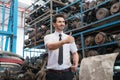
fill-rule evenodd
<path id="1" fill-rule="evenodd" d="M 75 0 L 73 3 L 63 7 L 63 8 L 60 8 L 60 9 L 57 9 L 57 13 L 63 11 L 64 9 L 76 4 L 76 3 L 80 3 L 80 13 L 79 14 L 76 14 L 76 15 L 73 15 L 73 16 L 70 16 L 68 17 L 68 19 L 66 20 L 70 20 L 70 19 L 73 19 L 75 18 L 77 15 L 83 15 L 84 13 L 86 12 L 89 12 L 90 10 L 93 10 L 99 6 L 102 6 L 108 2 L 110 2 L 110 0 L 105 0 L 104 2 L 100 3 L 100 4 L 97 4 L 95 7 L 92 7 L 92 8 L 89 8 L 87 10 L 82 10 L 82 1 L 81 0 Z M 105 43 L 105 44 L 99 44 L 99 45 L 93 45 L 93 46 L 85 46 L 84 45 L 84 35 L 85 34 L 88 34 L 88 33 L 93 33 L 95 32 L 96 30 L 100 31 L 101 29 L 104 29 L 104 28 L 107 28 L 107 27 L 113 27 L 114 25 L 119 25 L 120 24 L 120 19 L 116 19 L 116 20 L 112 20 L 112 21 L 109 21 L 109 19 L 112 19 L 114 17 L 120 17 L 120 12 L 114 14 L 114 15 L 111 15 L 111 16 L 108 16 L 108 17 L 105 17 L 104 19 L 101 19 L 101 20 L 97 20 L 97 21 L 94 21 L 94 22 L 91 22 L 87 25 L 83 25 L 82 24 L 82 27 L 80 28 L 77 28 L 77 29 L 72 29 L 72 30 L 69 30 L 69 31 L 66 31 L 66 33 L 69 33 L 69 32 L 73 32 L 73 36 L 80 36 L 81 38 L 81 45 L 82 47 L 79 49 L 79 51 L 82 50 L 82 55 L 83 57 L 85 57 L 85 49 L 91 49 L 91 48 L 97 48 L 97 47 L 101 47 L 101 46 L 107 46 L 107 45 L 112 45 L 112 44 L 117 44 L 117 41 L 113 41 L 113 42 L 108 42 L 108 43 Z M 81 18 L 81 21 L 84 22 L 84 18 L 83 16 L 80 17 Z M 104 23 L 104 21 L 108 20 L 106 23 Z M 104 23 L 104 24 L 101 24 L 101 23 Z M 97 25 L 99 24 L 100 25 Z M 95 26 L 95 27 L 94 27 Z M 114 27 L 113 27 L 114 28 Z"/>

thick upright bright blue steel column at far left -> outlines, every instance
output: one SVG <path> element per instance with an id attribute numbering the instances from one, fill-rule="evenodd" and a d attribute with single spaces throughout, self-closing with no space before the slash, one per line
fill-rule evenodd
<path id="1" fill-rule="evenodd" d="M 18 0 L 11 0 L 7 31 L 13 34 L 6 37 L 5 51 L 9 49 L 9 51 L 13 53 L 16 53 L 17 18 L 18 18 Z M 8 45 L 8 42 L 9 42 L 9 45 Z"/>

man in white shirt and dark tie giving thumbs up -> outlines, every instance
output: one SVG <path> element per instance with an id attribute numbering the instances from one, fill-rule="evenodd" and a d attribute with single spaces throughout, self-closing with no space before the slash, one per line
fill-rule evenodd
<path id="1" fill-rule="evenodd" d="M 63 15 L 54 16 L 53 26 L 55 32 L 44 37 L 48 51 L 46 80 L 72 80 L 73 71 L 76 70 L 79 60 L 74 38 L 63 33 L 65 27 Z M 73 57 L 73 65 L 71 64 L 70 52 Z M 62 61 L 59 61 L 60 54 L 62 54 Z"/>

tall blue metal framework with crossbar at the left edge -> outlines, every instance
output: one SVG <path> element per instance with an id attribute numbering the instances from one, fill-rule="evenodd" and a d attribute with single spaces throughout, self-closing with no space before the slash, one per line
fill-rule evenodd
<path id="1" fill-rule="evenodd" d="M 6 7 L 6 3 L 10 4 L 10 7 Z M 18 18 L 18 0 L 8 0 L 2 1 L 2 29 L 0 30 L 0 35 L 2 36 L 2 47 L 3 42 L 5 42 L 5 48 L 2 48 L 4 51 L 10 51 L 16 53 L 16 41 L 17 41 L 17 18 Z M 5 31 L 4 29 L 4 21 L 5 21 L 5 10 L 9 9 L 9 19 L 8 19 L 8 27 Z M 5 39 L 3 37 L 5 36 Z"/>

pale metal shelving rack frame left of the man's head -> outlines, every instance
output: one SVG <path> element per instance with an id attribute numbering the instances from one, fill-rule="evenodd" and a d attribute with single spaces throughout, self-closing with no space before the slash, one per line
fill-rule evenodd
<path id="1" fill-rule="evenodd" d="M 34 2 L 33 4 L 36 4 L 36 3 L 38 3 L 40 0 L 37 0 L 36 2 Z M 47 21 L 45 21 L 45 22 L 47 22 L 47 23 L 49 23 L 49 25 L 47 25 L 47 26 L 49 26 L 49 29 L 50 29 L 50 33 L 52 33 L 52 23 L 50 22 L 50 21 L 52 21 L 52 14 L 53 14 L 53 9 L 52 9 L 52 0 L 48 0 L 47 2 L 45 2 L 44 3 L 44 5 L 46 5 L 46 4 L 50 4 L 50 9 L 49 10 L 47 10 L 46 12 L 44 12 L 43 14 L 41 14 L 41 15 L 39 15 L 37 18 L 35 18 L 34 20 L 32 20 L 32 21 L 30 21 L 30 26 L 29 27 L 26 27 L 26 24 L 25 24 L 25 27 L 26 28 L 30 28 L 30 27 L 32 27 L 33 25 L 36 25 L 37 23 L 42 23 L 42 21 L 44 21 L 44 20 L 46 20 L 46 19 L 49 19 L 49 20 L 47 20 Z M 31 8 L 32 7 L 32 5 L 31 6 L 29 6 L 27 9 L 26 9 L 26 11 L 27 10 L 29 10 L 29 8 Z M 36 9 L 34 9 L 34 10 L 30 10 L 30 12 L 29 13 L 25 13 L 25 16 L 27 17 L 27 16 L 29 16 L 29 15 L 32 15 L 34 12 L 36 12 L 36 11 L 39 11 L 39 9 L 41 9 L 43 6 L 39 6 L 39 7 L 37 7 Z M 25 17 L 25 18 L 26 18 Z M 24 29 L 25 30 L 25 29 Z M 36 35 L 35 35 L 36 36 Z M 40 44 L 39 44 L 40 43 Z M 33 46 L 31 46 L 31 45 L 33 45 Z M 24 46 L 24 50 L 23 50 L 23 57 L 25 57 L 25 55 L 27 55 L 27 54 L 30 54 L 30 57 L 32 57 L 32 55 L 31 54 L 41 54 L 42 52 L 45 52 L 45 50 L 44 50 L 44 48 L 42 48 L 42 47 L 44 47 L 44 43 L 43 43 L 43 40 L 42 39 L 40 39 L 39 41 L 35 41 L 35 43 L 32 43 L 32 44 L 29 44 L 29 45 L 26 45 L 26 46 Z M 41 49 L 42 49 L 42 51 L 41 51 Z M 38 55 L 38 56 L 40 56 L 40 55 Z"/>

